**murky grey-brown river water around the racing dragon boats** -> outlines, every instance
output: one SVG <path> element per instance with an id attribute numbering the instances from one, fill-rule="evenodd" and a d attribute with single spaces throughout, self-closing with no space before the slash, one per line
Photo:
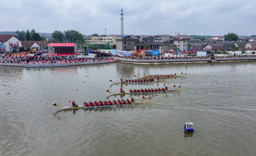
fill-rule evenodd
<path id="1" fill-rule="evenodd" d="M 255 155 L 255 65 L 0 66 L 0 155 Z M 138 95 L 110 96 L 105 90 L 118 91 L 120 84 L 110 86 L 109 79 L 181 72 L 187 75 L 122 86 L 125 91 L 181 86 L 176 92 L 145 95 L 152 97 L 146 104 L 94 110 L 51 105 L 106 98 L 143 101 Z M 183 131 L 186 122 L 193 122 L 193 133 Z"/>

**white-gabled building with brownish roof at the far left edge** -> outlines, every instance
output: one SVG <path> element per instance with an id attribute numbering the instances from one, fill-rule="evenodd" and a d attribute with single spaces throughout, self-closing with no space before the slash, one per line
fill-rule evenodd
<path id="1" fill-rule="evenodd" d="M 22 47 L 21 40 L 15 35 L 0 35 L 0 48 L 1 51 L 19 50 Z"/>

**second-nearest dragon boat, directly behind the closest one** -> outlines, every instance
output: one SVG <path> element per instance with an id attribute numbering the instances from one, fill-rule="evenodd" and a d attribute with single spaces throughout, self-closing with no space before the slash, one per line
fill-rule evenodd
<path id="1" fill-rule="evenodd" d="M 111 91 L 109 91 L 109 90 L 106 90 L 106 92 L 109 92 L 109 93 L 111 93 L 111 94 L 150 94 L 150 93 L 161 93 L 161 92 L 172 92 L 172 91 L 178 91 L 180 89 L 180 86 L 177 88 L 177 89 L 170 89 L 170 90 L 162 90 L 162 89 L 160 89 L 160 90 L 158 90 L 158 89 L 153 89 L 153 91 L 152 91 L 152 89 L 148 89 L 147 91 L 142 91 L 142 90 L 139 90 L 139 92 L 137 91 L 137 92 L 134 92 L 134 90 L 132 90 L 132 92 L 131 91 L 129 91 L 129 92 L 125 92 L 125 91 L 122 91 L 122 92 L 111 92 Z M 150 91 L 149 91 L 150 90 Z"/>

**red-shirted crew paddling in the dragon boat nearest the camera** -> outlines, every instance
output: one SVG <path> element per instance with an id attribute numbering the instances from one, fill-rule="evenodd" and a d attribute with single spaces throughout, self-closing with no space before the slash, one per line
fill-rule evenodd
<path id="1" fill-rule="evenodd" d="M 85 107 L 89 107 L 89 106 L 91 106 L 91 107 L 93 107 L 93 106 L 112 106 L 112 105 L 127 105 L 127 104 L 132 104 L 132 103 L 135 103 L 134 102 L 134 99 L 133 98 L 131 98 L 131 100 L 129 100 L 129 99 L 127 99 L 127 100 L 108 100 L 108 101 L 106 101 L 106 100 L 104 100 L 104 101 L 99 101 L 99 102 L 97 102 L 97 101 L 95 101 L 94 103 L 93 102 L 91 102 L 91 101 L 89 101 L 89 103 L 86 103 L 85 101 L 84 101 L 84 103 L 83 103 L 83 106 L 85 106 Z M 76 105 L 76 103 L 75 103 L 75 101 L 72 101 L 72 106 L 73 107 L 76 107 L 77 105 Z"/>

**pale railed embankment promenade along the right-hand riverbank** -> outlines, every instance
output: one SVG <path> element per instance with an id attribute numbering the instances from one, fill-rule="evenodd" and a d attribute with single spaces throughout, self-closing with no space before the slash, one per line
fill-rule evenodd
<path id="1" fill-rule="evenodd" d="M 256 60 L 256 56 L 223 56 L 223 57 L 113 57 L 127 63 L 198 63 Z"/>

